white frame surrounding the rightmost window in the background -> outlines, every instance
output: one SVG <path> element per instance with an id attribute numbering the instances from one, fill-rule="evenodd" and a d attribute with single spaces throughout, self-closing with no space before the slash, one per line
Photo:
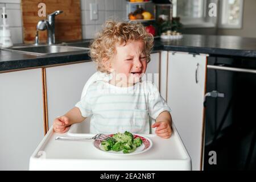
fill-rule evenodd
<path id="1" fill-rule="evenodd" d="M 238 24 L 223 24 L 222 20 L 224 18 L 226 18 L 226 15 L 224 14 L 225 11 L 225 7 L 227 5 L 228 1 L 221 1 L 221 4 L 219 6 L 220 9 L 220 19 L 218 20 L 218 28 L 232 28 L 232 29 L 241 29 L 242 28 L 242 24 L 243 24 L 243 0 L 240 0 L 240 14 L 239 14 L 239 18 L 238 18 Z"/>

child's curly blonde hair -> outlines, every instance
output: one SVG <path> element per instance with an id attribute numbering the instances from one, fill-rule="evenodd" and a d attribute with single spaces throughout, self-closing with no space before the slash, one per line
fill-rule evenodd
<path id="1" fill-rule="evenodd" d="M 103 59 L 112 59 L 116 53 L 115 44 L 126 44 L 133 40 L 142 40 L 144 42 L 144 53 L 147 62 L 149 62 L 154 42 L 152 34 L 148 34 L 141 23 L 107 20 L 103 30 L 98 32 L 90 45 L 89 56 L 96 63 L 97 70 L 109 73 Z"/>

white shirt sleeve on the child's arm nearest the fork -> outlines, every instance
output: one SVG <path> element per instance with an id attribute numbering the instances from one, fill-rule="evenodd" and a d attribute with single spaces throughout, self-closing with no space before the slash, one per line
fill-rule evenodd
<path id="1" fill-rule="evenodd" d="M 90 86 L 88 88 L 88 91 L 86 92 L 85 96 L 83 96 L 81 98 L 81 100 L 79 102 L 77 102 L 77 104 L 75 105 L 76 107 L 79 108 L 82 117 L 90 117 L 90 115 L 92 115 L 92 102 L 90 99 Z"/>

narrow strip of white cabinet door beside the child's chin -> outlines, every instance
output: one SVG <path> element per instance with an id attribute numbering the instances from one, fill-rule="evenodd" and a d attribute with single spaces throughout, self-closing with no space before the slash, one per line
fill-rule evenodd
<path id="1" fill-rule="evenodd" d="M 148 81 L 152 81 L 159 88 L 159 71 L 160 71 L 160 53 L 151 53 L 151 61 L 147 64 L 146 76 Z"/>

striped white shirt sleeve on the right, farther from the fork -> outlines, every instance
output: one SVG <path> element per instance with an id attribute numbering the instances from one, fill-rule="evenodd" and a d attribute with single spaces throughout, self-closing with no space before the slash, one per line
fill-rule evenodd
<path id="1" fill-rule="evenodd" d="M 156 119 L 163 111 L 171 112 L 167 102 L 160 95 L 158 88 L 154 84 L 151 85 L 151 92 L 148 95 L 148 114 L 151 118 Z"/>

